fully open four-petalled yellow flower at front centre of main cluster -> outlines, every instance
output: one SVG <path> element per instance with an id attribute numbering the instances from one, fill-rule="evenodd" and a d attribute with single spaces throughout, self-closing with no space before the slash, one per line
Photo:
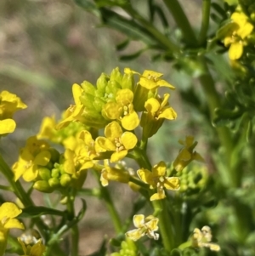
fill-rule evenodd
<path id="1" fill-rule="evenodd" d="M 131 132 L 123 133 L 116 121 L 105 127 L 105 137 L 98 137 L 95 142 L 104 151 L 115 151 L 111 155 L 111 162 L 117 162 L 127 156 L 127 151 L 133 149 L 138 140 Z"/>

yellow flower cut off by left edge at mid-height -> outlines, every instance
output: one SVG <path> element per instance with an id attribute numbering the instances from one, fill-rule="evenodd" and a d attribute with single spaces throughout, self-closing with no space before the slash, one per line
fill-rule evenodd
<path id="1" fill-rule="evenodd" d="M 19 97 L 10 94 L 8 91 L 0 93 L 0 135 L 13 133 L 16 123 L 12 119 L 14 112 L 26 109 Z"/>

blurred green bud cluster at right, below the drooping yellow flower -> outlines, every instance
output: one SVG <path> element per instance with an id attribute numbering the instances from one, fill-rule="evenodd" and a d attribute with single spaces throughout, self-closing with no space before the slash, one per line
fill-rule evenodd
<path id="1" fill-rule="evenodd" d="M 190 164 L 187 168 L 184 168 L 181 172 L 178 172 L 180 177 L 180 192 L 192 193 L 194 191 L 200 191 L 207 184 L 207 168 Z"/>

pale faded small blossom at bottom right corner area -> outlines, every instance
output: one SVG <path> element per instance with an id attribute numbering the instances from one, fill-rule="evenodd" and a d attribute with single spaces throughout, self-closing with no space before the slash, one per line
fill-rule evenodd
<path id="1" fill-rule="evenodd" d="M 201 230 L 195 228 L 192 236 L 193 247 L 209 247 L 211 251 L 218 252 L 220 247 L 218 244 L 211 242 L 212 232 L 207 225 L 203 226 Z"/>

